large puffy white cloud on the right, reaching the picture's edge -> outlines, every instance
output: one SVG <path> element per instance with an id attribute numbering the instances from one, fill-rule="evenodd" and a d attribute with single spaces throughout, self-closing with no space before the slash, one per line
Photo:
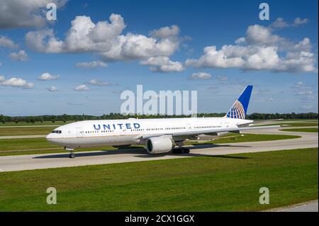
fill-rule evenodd
<path id="1" fill-rule="evenodd" d="M 316 57 L 310 52 L 309 38 L 293 43 L 271 28 L 249 26 L 246 36 L 238 38 L 237 45 L 215 45 L 203 49 L 198 59 L 186 60 L 186 66 L 198 68 L 240 68 L 243 70 L 267 69 L 272 72 L 318 72 Z M 280 52 L 280 53 L 279 53 Z"/>

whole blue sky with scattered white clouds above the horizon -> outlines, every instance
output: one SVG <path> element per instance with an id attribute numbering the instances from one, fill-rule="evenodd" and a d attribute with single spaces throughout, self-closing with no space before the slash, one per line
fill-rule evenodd
<path id="1" fill-rule="evenodd" d="M 248 113 L 318 112 L 318 1 L 0 0 L 0 114 L 119 113 L 138 84 L 198 113 L 248 84 Z"/>

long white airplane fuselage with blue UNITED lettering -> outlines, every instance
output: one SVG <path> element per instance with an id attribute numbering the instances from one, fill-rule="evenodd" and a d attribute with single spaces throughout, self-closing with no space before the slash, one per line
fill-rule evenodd
<path id="1" fill-rule="evenodd" d="M 252 120 L 237 118 L 157 118 L 121 120 L 85 120 L 56 128 L 46 139 L 64 147 L 102 147 L 108 145 L 145 145 L 150 136 L 174 135 L 187 132 L 200 134 L 212 129 L 237 128 L 248 125 Z M 208 134 L 217 135 L 217 134 Z M 197 136 L 194 138 L 198 138 Z"/>

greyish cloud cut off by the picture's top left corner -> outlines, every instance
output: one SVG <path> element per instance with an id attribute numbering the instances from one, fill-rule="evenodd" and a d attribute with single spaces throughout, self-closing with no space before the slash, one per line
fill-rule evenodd
<path id="1" fill-rule="evenodd" d="M 59 9 L 67 0 L 1 0 L 0 29 L 44 26 L 47 23 L 46 6 L 50 2 Z"/>

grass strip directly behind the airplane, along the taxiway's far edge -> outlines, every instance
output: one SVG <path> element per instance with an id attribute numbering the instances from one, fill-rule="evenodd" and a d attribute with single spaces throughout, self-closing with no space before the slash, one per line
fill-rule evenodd
<path id="1" fill-rule="evenodd" d="M 235 137 L 233 137 L 235 136 Z M 253 141 L 267 141 L 267 140 L 284 140 L 298 138 L 295 135 L 257 135 L 257 134 L 245 134 L 244 136 L 238 136 L 237 134 L 230 133 L 226 137 L 220 137 L 211 142 L 205 143 L 232 143 L 232 142 L 253 142 Z M 198 142 L 186 142 L 185 145 L 196 145 Z M 201 142 L 200 144 L 203 144 Z M 133 146 L 132 148 L 142 147 Z M 94 151 L 94 150 L 113 150 L 114 147 L 94 147 L 94 148 L 77 148 L 76 152 Z M 41 154 L 41 153 L 53 153 L 53 152 L 65 152 L 65 150 L 57 145 L 52 145 L 47 142 L 45 138 L 23 138 L 23 139 L 6 139 L 0 140 L 0 156 L 2 155 L 14 155 L 14 154 Z"/>

